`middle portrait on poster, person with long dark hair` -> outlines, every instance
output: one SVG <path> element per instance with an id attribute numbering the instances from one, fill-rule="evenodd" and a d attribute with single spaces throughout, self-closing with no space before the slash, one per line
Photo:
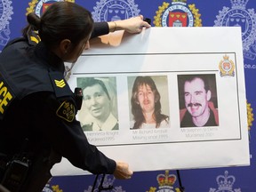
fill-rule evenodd
<path id="1" fill-rule="evenodd" d="M 168 128 L 167 76 L 129 76 L 130 128 Z"/>

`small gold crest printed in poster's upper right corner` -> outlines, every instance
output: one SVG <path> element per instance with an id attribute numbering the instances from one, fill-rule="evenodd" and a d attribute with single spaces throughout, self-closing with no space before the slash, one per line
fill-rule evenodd
<path id="1" fill-rule="evenodd" d="M 229 60 L 228 55 L 223 56 L 223 60 L 220 60 L 219 64 L 220 76 L 235 76 L 235 64 L 233 60 Z"/>

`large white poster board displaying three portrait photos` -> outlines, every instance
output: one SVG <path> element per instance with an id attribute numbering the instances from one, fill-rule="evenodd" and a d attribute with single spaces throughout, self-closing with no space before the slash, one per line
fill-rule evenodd
<path id="1" fill-rule="evenodd" d="M 241 29 L 234 27 L 149 28 L 138 35 L 118 31 L 93 39 L 90 50 L 77 60 L 68 84 L 74 90 L 77 82 L 80 85 L 88 77 L 111 83 L 118 128 L 85 131 L 88 140 L 108 157 L 128 162 L 135 172 L 249 165 L 241 36 Z M 217 116 L 212 112 L 215 125 L 180 123 L 180 110 L 185 108 L 181 82 L 190 75 L 208 78 L 218 110 Z M 131 129 L 132 85 L 137 76 L 154 80 L 168 124 Z M 88 113 L 83 105 L 77 115 L 82 125 L 88 124 Z M 84 171 L 63 159 L 52 173 Z"/>

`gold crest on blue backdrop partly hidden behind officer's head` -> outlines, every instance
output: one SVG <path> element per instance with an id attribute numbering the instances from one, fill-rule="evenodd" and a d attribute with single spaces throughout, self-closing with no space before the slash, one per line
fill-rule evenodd
<path id="1" fill-rule="evenodd" d="M 30 3 L 28 3 L 29 7 L 27 8 L 27 13 L 28 15 L 30 12 L 35 12 L 36 15 L 39 17 L 42 15 L 43 12 L 49 7 L 51 4 L 55 2 L 71 2 L 75 3 L 75 0 L 32 0 Z"/>

